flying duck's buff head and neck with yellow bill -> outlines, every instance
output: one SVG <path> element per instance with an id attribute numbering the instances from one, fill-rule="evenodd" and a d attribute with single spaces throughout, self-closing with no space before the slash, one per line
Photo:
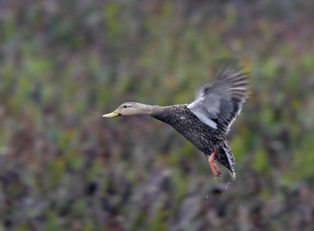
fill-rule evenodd
<path id="1" fill-rule="evenodd" d="M 152 108 L 153 107 L 150 105 L 128 102 L 121 104 L 117 110 L 112 113 L 103 115 L 103 117 L 150 115 L 152 112 Z"/>

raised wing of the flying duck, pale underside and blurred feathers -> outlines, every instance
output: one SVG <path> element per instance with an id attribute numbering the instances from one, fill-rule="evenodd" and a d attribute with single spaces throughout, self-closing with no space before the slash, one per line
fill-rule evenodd
<path id="1" fill-rule="evenodd" d="M 242 72 L 238 63 L 228 63 L 219 68 L 213 83 L 201 86 L 196 99 L 188 108 L 203 123 L 215 129 L 220 128 L 227 134 L 251 93 L 249 87 L 248 76 Z"/>

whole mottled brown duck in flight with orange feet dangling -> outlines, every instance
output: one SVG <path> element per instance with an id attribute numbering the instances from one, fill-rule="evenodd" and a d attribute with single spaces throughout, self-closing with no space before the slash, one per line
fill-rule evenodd
<path id="1" fill-rule="evenodd" d="M 215 160 L 235 179 L 234 157 L 226 135 L 249 97 L 248 88 L 248 76 L 228 62 L 221 66 L 213 83 L 201 86 L 191 104 L 161 107 L 129 102 L 104 117 L 151 115 L 171 125 L 203 151 L 216 178 L 220 178 L 221 172 Z"/>

